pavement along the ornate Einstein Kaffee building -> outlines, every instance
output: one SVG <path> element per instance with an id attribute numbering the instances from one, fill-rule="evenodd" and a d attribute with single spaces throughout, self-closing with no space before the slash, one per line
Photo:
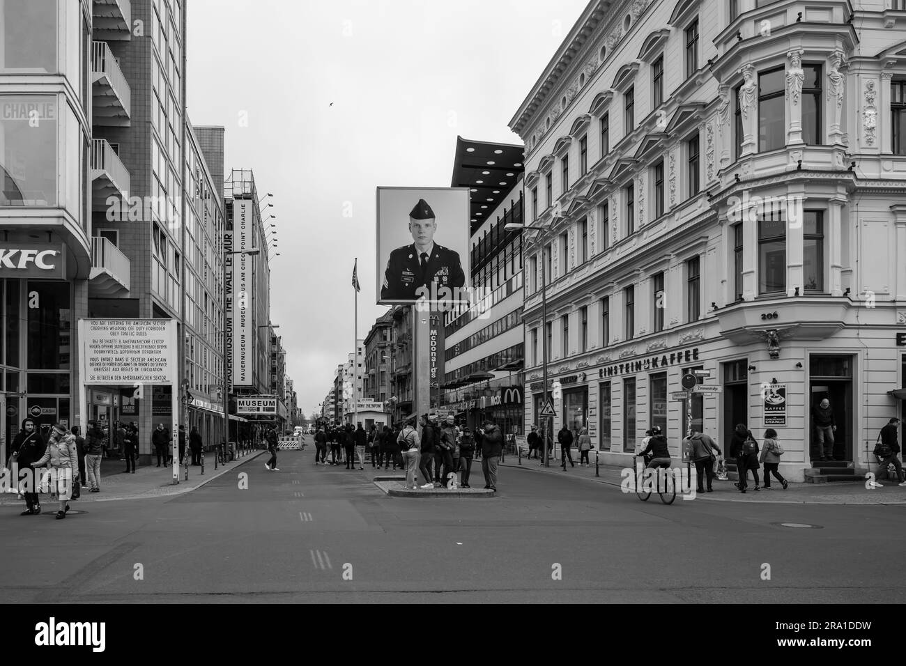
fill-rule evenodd
<path id="1" fill-rule="evenodd" d="M 573 451 L 573 460 L 579 458 L 578 451 Z M 592 464 L 590 467 L 579 467 L 576 462 L 575 467 L 566 464 L 566 471 L 560 467 L 560 459 L 551 458 L 549 468 L 541 467 L 539 460 L 532 458 L 522 458 L 522 465 L 519 465 L 518 458 L 512 454 L 507 454 L 506 462 L 501 463 L 501 467 L 522 468 L 534 473 L 556 474 L 567 476 L 585 482 L 598 483 L 604 486 L 611 486 L 620 490 L 623 478 L 623 468 L 615 465 L 600 465 L 598 472 L 600 477 L 594 476 L 594 451 L 592 451 Z M 694 469 L 694 467 L 693 467 Z M 761 472 L 759 471 L 759 477 Z M 764 480 L 763 477 L 761 477 Z M 858 505 L 878 505 L 878 504 L 901 504 L 906 505 L 906 487 L 897 486 L 896 482 L 882 481 L 884 487 L 869 490 L 864 483 L 792 483 L 786 490 L 776 482 L 771 483 L 771 489 L 753 490 L 751 479 L 749 479 L 748 491 L 745 495 L 740 493 L 733 486 L 733 481 L 718 481 L 714 479 L 713 493 L 698 493 L 696 499 L 704 499 L 712 502 L 742 502 L 748 504 L 858 504 Z M 679 490 L 678 490 L 679 494 Z"/>

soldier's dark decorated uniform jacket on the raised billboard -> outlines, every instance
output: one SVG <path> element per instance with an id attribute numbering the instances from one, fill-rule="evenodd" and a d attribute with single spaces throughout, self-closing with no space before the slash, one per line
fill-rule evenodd
<path id="1" fill-rule="evenodd" d="M 390 253 L 381 299 L 389 301 L 414 301 L 419 297 L 422 286 L 431 289 L 431 284 L 441 287 L 462 287 L 466 285 L 466 274 L 459 263 L 459 254 L 444 246 L 434 244 L 428 257 L 427 270 L 422 273 L 419 251 L 415 245 L 397 247 Z M 432 295 L 429 293 L 429 296 Z M 460 300 L 460 299 L 457 299 Z"/>

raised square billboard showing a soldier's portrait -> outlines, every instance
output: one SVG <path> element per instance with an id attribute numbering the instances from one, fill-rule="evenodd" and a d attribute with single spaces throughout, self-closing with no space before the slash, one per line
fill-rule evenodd
<path id="1" fill-rule="evenodd" d="M 466 303 L 468 188 L 377 189 L 377 302 Z"/>

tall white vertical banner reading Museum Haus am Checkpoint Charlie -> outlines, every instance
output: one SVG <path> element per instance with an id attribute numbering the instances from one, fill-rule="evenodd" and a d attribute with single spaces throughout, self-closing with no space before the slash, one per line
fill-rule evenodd
<path id="1" fill-rule="evenodd" d="M 234 252 L 250 249 L 254 243 L 252 215 L 255 202 L 251 199 L 233 201 Z M 254 257 L 233 255 L 233 385 L 251 386 L 252 370 L 252 270 Z M 229 354 L 228 354 L 229 355 Z"/>

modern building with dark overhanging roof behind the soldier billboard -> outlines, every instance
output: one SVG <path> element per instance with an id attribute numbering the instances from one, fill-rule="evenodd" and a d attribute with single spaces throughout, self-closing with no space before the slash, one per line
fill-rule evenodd
<path id="1" fill-rule="evenodd" d="M 467 307 L 442 314 L 442 411 L 471 428 L 492 419 L 523 434 L 523 146 L 457 141 L 452 187 L 470 190 L 471 285 Z"/>

